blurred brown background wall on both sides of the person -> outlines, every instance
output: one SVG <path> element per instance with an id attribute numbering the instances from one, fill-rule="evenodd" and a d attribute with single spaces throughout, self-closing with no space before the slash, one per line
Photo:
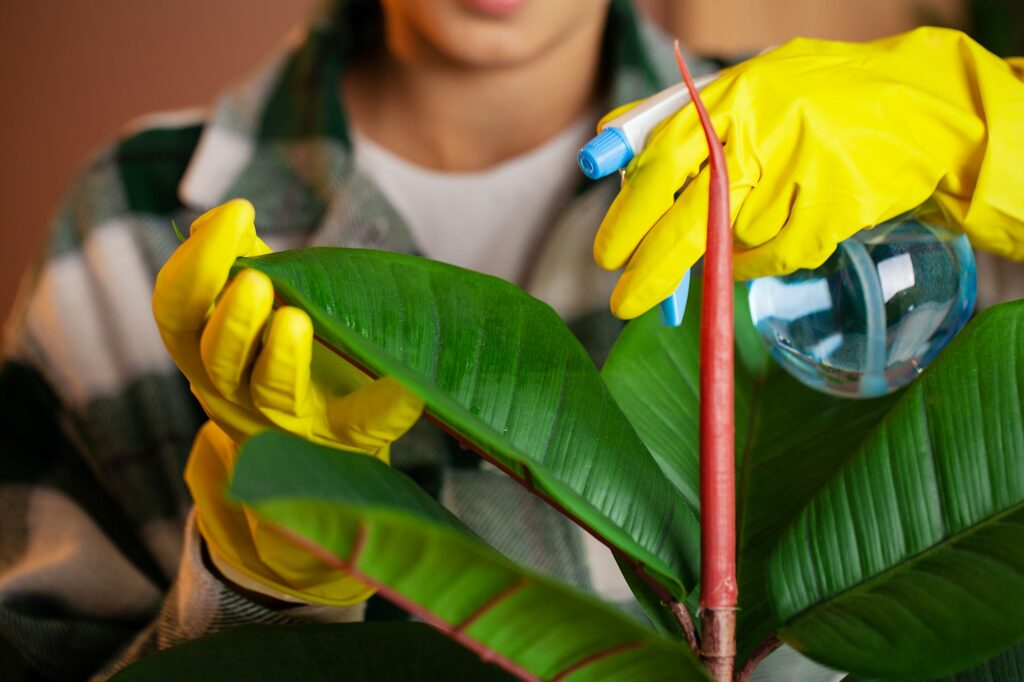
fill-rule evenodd
<path id="1" fill-rule="evenodd" d="M 550 0 L 549 0 L 550 1 Z M 128 120 L 208 102 L 316 0 L 0 0 L 0 318 L 83 159 Z M 958 0 L 645 0 L 692 47 L 864 39 Z"/>

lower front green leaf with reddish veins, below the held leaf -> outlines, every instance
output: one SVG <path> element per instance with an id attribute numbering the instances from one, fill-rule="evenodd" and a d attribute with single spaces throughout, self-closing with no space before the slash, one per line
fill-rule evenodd
<path id="1" fill-rule="evenodd" d="M 229 494 L 523 679 L 705 679 L 680 642 L 512 563 L 374 458 L 264 433 L 243 446 Z"/>

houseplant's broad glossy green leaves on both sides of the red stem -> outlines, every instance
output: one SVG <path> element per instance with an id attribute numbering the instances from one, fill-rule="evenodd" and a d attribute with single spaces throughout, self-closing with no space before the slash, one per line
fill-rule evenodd
<path id="1" fill-rule="evenodd" d="M 611 547 L 650 626 L 499 556 L 369 458 L 264 434 L 243 449 L 230 495 L 523 679 L 703 677 L 687 644 L 698 296 L 678 330 L 631 323 L 599 374 L 550 308 L 486 275 L 341 249 L 242 267 L 306 309 L 324 348 L 402 381 L 468 447 Z M 982 312 L 909 388 L 864 401 L 778 371 L 741 291 L 735 305 L 739 676 L 778 641 L 873 679 L 1009 670 L 1024 639 L 1024 302 Z M 362 656 L 397 655 L 383 626 L 330 628 L 373 628 Z M 403 645 L 431 636 L 415 628 Z M 258 649 L 254 631 L 225 650 Z M 296 656 L 288 665 L 311 659 Z"/>

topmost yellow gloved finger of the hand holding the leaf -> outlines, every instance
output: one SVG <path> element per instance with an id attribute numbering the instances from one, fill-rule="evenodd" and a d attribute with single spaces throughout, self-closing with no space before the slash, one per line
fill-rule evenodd
<path id="1" fill-rule="evenodd" d="M 256 237 L 255 217 L 252 204 L 236 199 L 193 222 L 191 236 L 157 275 L 153 311 L 162 333 L 199 331 L 234 259 L 269 253 Z"/>

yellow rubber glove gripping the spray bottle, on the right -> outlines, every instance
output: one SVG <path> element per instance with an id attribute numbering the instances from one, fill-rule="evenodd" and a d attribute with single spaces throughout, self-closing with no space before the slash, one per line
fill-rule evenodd
<path id="1" fill-rule="evenodd" d="M 816 267 L 933 196 L 976 247 L 1024 260 L 1024 60 L 945 29 L 798 39 L 723 71 L 701 98 L 725 144 L 736 279 Z M 703 253 L 707 157 L 687 106 L 626 169 L 594 242 L 600 266 L 626 266 L 620 317 L 657 304 Z"/>

